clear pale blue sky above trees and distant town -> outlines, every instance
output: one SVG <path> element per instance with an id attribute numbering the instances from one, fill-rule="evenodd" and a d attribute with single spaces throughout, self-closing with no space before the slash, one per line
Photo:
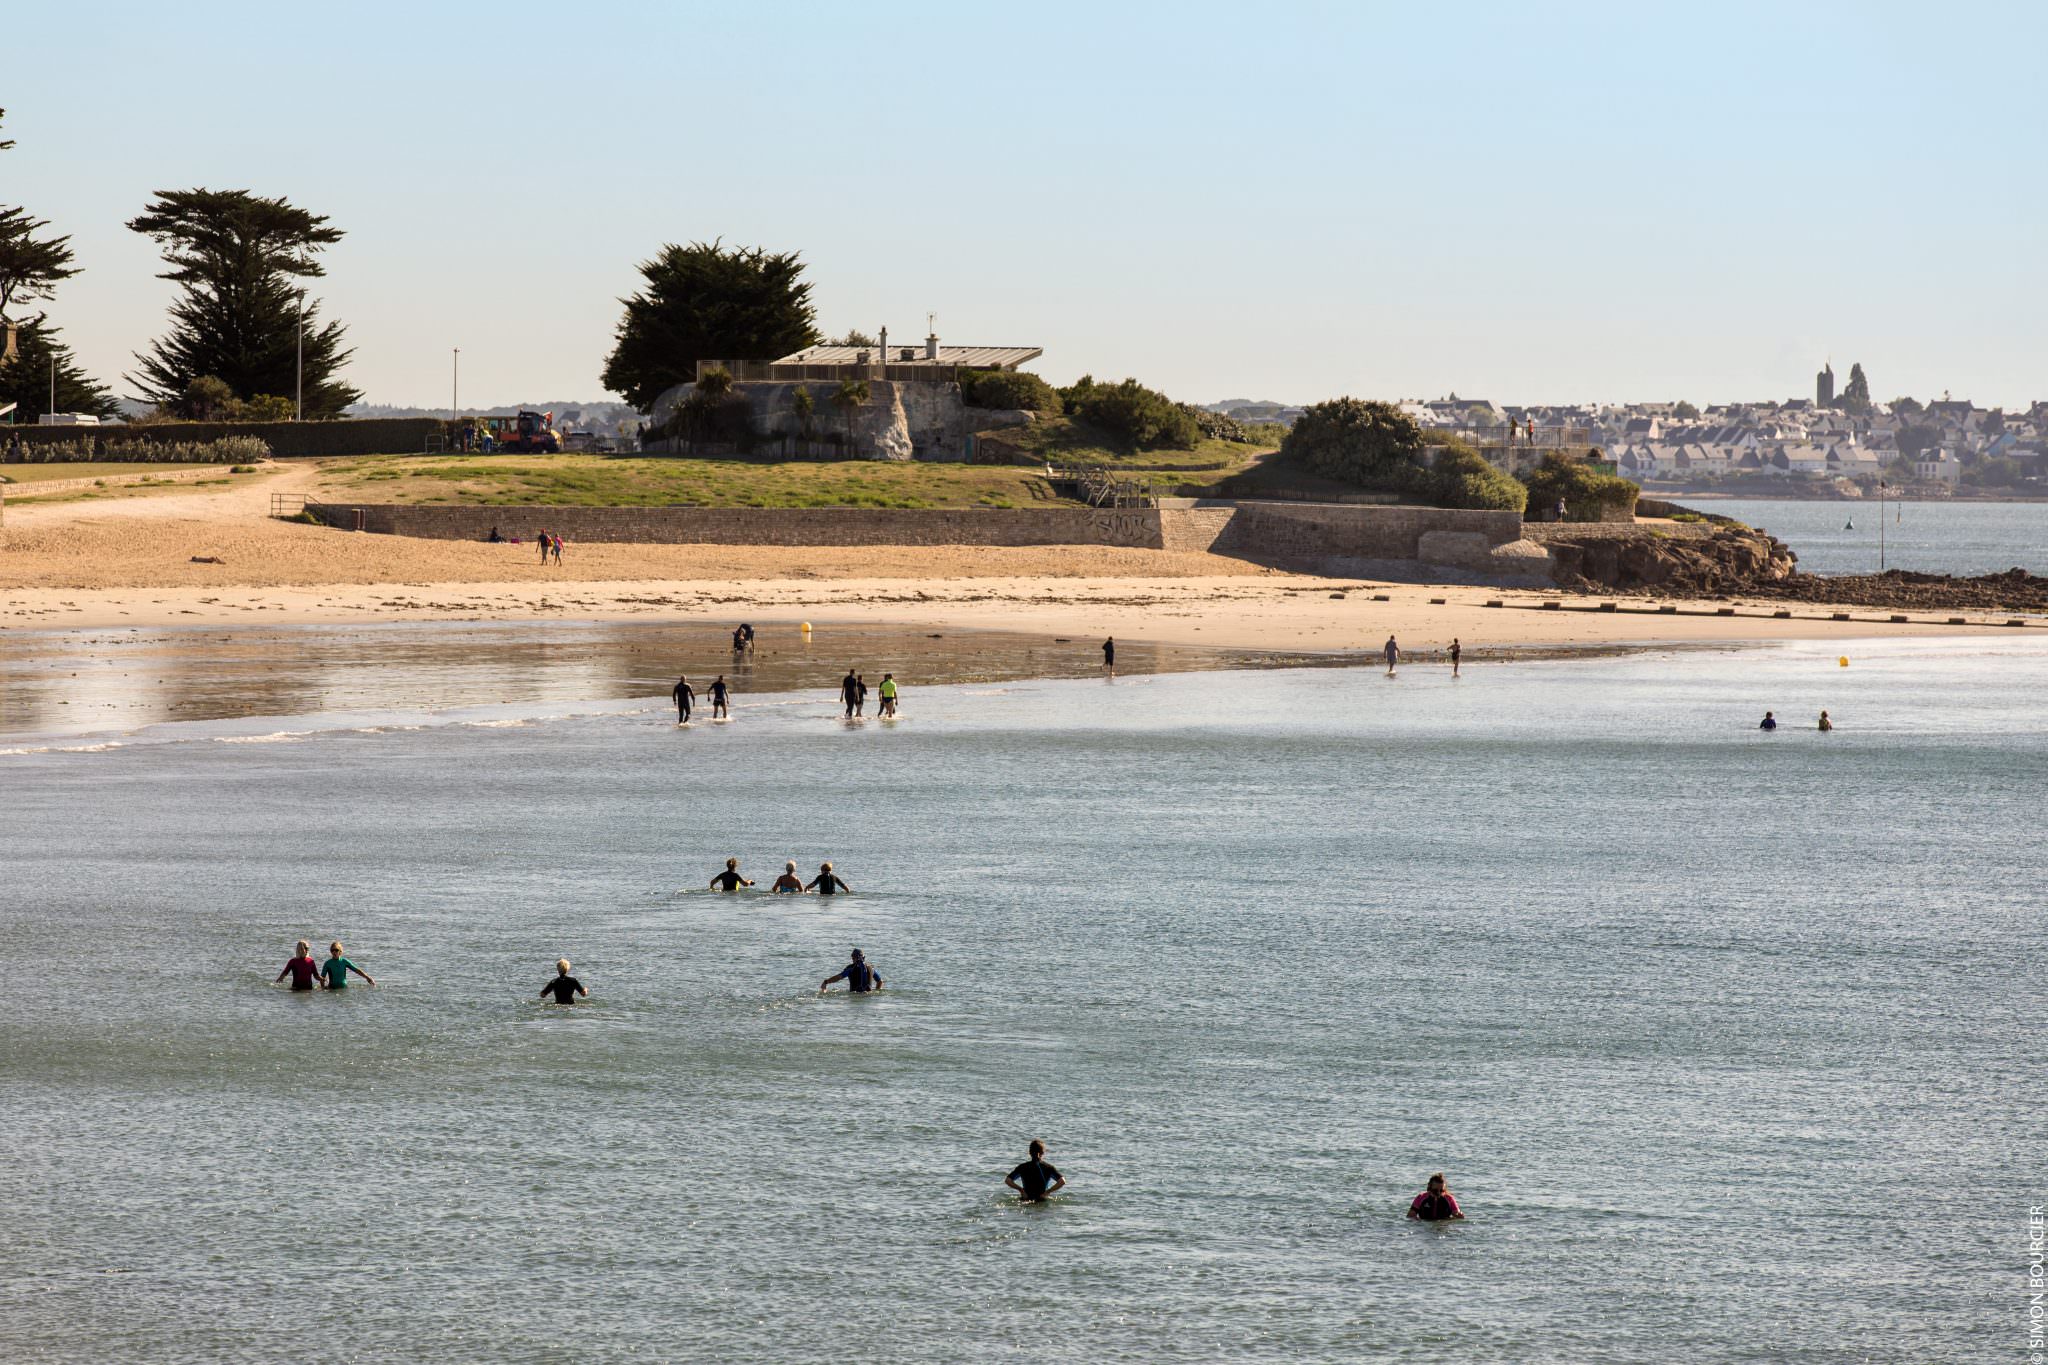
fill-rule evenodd
<path id="1" fill-rule="evenodd" d="M 2048 399 L 2048 6 L 25 6 L 0 205 L 119 383 L 125 229 L 248 188 L 348 235 L 373 403 L 610 397 L 668 241 L 795 250 L 819 325 L 1042 346 L 1055 383 L 1311 403 Z"/>

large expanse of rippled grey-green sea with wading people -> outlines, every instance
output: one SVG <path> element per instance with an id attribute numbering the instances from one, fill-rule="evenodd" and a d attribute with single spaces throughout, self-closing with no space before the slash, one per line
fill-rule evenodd
<path id="1" fill-rule="evenodd" d="M 1915 641 L 12 753 L 0 1340 L 2017 1359 L 2044 686 Z M 860 894 L 678 890 L 727 855 Z M 272 986 L 295 937 L 379 986 Z M 889 990 L 819 999 L 852 945 Z M 1432 1171 L 1468 1222 L 1401 1220 Z"/>

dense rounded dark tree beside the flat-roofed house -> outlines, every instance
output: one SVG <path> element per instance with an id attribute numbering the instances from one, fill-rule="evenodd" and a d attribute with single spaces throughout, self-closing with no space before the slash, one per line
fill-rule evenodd
<path id="1" fill-rule="evenodd" d="M 817 344 L 817 309 L 797 252 L 721 241 L 664 246 L 643 260 L 647 287 L 621 299 L 604 387 L 647 411 L 698 360 L 774 360 Z"/>

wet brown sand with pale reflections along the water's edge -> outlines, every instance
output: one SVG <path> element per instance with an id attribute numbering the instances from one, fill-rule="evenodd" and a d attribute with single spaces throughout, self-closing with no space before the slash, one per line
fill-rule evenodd
<path id="1" fill-rule="evenodd" d="M 88 735 L 166 720 L 444 710 L 666 698 L 725 673 L 750 692 L 834 694 L 846 669 L 868 688 L 1102 671 L 1102 641 L 1008 630 L 758 626 L 733 653 L 729 624 L 465 622 L 272 628 L 10 632 L 0 639 L 0 735 Z M 1120 643 L 1118 673 L 1339 663 L 1272 651 Z M 709 706 L 709 698 L 702 698 Z M 872 704 L 872 698 L 870 698 Z"/>

